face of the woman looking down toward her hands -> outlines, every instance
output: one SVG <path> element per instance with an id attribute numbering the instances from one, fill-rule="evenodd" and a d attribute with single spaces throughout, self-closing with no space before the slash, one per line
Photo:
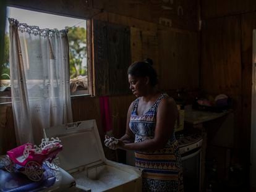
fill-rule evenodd
<path id="1" fill-rule="evenodd" d="M 134 77 L 129 74 L 128 81 L 130 83 L 130 90 L 132 90 L 132 93 L 137 98 L 143 96 L 143 94 L 147 90 L 148 77 Z"/>

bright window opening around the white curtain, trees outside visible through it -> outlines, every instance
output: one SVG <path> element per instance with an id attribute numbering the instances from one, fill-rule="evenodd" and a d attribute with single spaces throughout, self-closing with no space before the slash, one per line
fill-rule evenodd
<path id="1" fill-rule="evenodd" d="M 20 23 L 36 25 L 39 28 L 69 30 L 69 71 L 70 93 L 72 96 L 89 94 L 88 89 L 88 30 L 87 20 L 59 15 L 45 14 L 31 10 L 7 7 L 7 17 L 19 20 Z M 9 22 L 6 20 L 4 64 L 0 74 L 0 104 L 11 102 L 11 81 L 9 66 Z"/>

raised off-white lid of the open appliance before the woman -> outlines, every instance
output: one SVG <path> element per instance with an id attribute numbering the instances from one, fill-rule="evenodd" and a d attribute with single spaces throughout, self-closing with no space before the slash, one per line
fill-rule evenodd
<path id="1" fill-rule="evenodd" d="M 106 161 L 95 119 L 46 128 L 45 134 L 61 140 L 60 167 L 69 173 Z"/>

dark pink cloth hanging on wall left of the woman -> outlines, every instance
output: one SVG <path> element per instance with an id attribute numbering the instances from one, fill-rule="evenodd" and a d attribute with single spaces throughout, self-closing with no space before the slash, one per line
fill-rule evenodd
<path id="1" fill-rule="evenodd" d="M 112 118 L 109 108 L 108 96 L 100 97 L 100 114 L 103 130 L 105 132 L 112 130 Z"/>

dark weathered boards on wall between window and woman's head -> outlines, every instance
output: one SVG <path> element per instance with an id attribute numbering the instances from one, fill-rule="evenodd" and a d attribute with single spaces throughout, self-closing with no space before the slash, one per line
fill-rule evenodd
<path id="1" fill-rule="evenodd" d="M 130 28 L 93 20 L 93 44 L 94 95 L 129 94 Z"/>

